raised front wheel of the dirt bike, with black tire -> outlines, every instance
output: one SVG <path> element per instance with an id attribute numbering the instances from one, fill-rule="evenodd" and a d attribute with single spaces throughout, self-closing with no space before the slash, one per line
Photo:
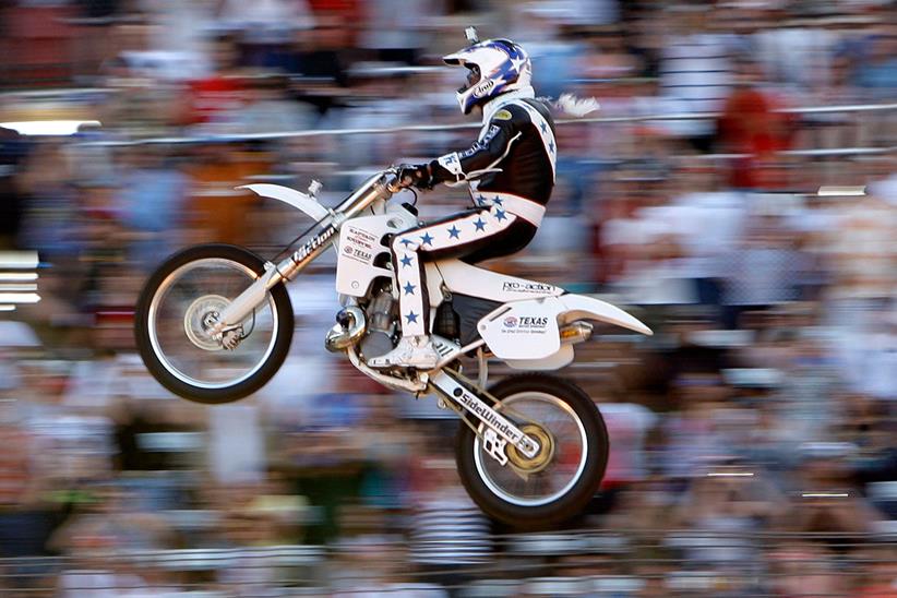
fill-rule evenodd
<path id="1" fill-rule="evenodd" d="M 226 342 L 208 330 L 264 272 L 261 258 L 228 244 L 196 246 L 166 260 L 146 282 L 134 313 L 134 336 L 150 373 L 196 403 L 230 403 L 261 388 L 283 364 L 292 339 L 284 285 L 228 331 Z"/>

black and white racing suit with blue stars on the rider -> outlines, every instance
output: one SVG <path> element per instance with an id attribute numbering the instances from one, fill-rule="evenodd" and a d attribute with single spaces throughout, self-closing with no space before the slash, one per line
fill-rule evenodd
<path id="1" fill-rule="evenodd" d="M 551 113 L 530 87 L 485 104 L 479 137 L 467 150 L 403 169 L 421 189 L 467 182 L 473 200 L 464 212 L 393 238 L 403 337 L 426 339 L 430 334 L 423 261 L 461 258 L 477 263 L 529 243 L 554 187 L 555 155 Z M 388 358 L 370 363 L 400 364 Z"/>

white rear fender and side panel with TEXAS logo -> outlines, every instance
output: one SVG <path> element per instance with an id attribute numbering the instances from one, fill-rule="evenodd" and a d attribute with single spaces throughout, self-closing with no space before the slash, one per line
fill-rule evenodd
<path id="1" fill-rule="evenodd" d="M 598 320 L 650 335 L 650 328 L 620 308 L 594 297 L 563 295 L 505 303 L 477 324 L 492 354 L 515 369 L 555 370 L 573 360 L 561 344 L 560 326 Z"/>

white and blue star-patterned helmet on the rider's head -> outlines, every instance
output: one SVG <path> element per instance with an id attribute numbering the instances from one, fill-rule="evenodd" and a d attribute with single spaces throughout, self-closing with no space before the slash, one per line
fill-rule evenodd
<path id="1" fill-rule="evenodd" d="M 469 113 L 474 106 L 528 87 L 533 77 L 529 55 L 510 39 L 487 39 L 442 57 L 446 64 L 470 69 L 467 85 L 457 92 L 461 111 Z"/>

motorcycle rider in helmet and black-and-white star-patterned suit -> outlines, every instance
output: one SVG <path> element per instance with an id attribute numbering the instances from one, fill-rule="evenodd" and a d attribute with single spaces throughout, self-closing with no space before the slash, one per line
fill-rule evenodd
<path id="1" fill-rule="evenodd" d="M 443 60 L 468 69 L 457 100 L 465 115 L 482 111 L 482 129 L 467 150 L 400 166 L 399 184 L 428 190 L 467 183 L 473 206 L 393 238 L 402 338 L 392 351 L 368 361 L 374 368 L 435 367 L 440 356 L 430 338 L 423 261 L 476 263 L 522 250 L 536 235 L 554 188 L 554 123 L 547 104 L 535 97 L 527 52 L 509 39 L 488 39 Z"/>

